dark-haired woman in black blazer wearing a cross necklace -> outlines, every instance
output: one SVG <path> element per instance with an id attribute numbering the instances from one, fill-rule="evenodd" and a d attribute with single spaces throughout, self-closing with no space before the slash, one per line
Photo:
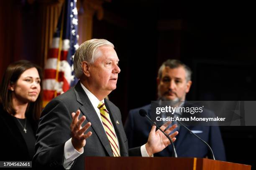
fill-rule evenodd
<path id="1" fill-rule="evenodd" d="M 42 108 L 42 71 L 20 60 L 10 64 L 0 85 L 0 161 L 32 161 Z"/>

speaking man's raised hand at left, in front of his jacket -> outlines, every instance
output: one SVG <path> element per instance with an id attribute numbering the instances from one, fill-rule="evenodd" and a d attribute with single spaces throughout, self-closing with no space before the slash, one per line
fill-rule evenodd
<path id="1" fill-rule="evenodd" d="M 77 110 L 76 113 L 72 112 L 72 123 L 70 125 L 71 135 L 72 135 L 72 145 L 77 151 L 81 151 L 84 145 L 86 144 L 87 138 L 92 135 L 92 132 L 88 132 L 84 135 L 84 132 L 91 126 L 91 122 L 88 122 L 84 127 L 81 127 L 82 123 L 86 119 L 85 116 L 82 116 L 79 120 L 80 110 Z"/>

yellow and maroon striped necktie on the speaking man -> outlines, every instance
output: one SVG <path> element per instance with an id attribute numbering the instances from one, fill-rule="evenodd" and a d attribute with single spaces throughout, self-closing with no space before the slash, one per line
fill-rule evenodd
<path id="1" fill-rule="evenodd" d="M 105 103 L 100 102 L 98 105 L 98 108 L 100 109 L 100 117 L 102 120 L 103 128 L 105 129 L 105 132 L 108 136 L 108 140 L 109 140 L 113 155 L 120 156 L 120 152 L 119 152 L 118 145 L 117 145 L 118 140 L 115 135 L 113 125 L 110 122 L 110 116 L 109 116 L 108 110 L 105 106 Z"/>

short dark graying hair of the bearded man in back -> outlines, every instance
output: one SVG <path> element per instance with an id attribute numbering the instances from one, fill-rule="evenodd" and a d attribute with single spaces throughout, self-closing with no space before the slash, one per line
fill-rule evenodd
<path id="1" fill-rule="evenodd" d="M 161 65 L 161 67 L 158 70 L 158 77 L 161 79 L 162 78 L 162 72 L 164 67 L 170 67 L 170 68 L 177 68 L 177 67 L 183 67 L 185 72 L 186 72 L 186 80 L 187 82 L 189 80 L 191 80 L 191 75 L 192 75 L 192 71 L 191 69 L 185 65 L 183 62 L 181 62 L 180 60 L 166 60 L 165 62 L 163 62 L 163 64 Z"/>

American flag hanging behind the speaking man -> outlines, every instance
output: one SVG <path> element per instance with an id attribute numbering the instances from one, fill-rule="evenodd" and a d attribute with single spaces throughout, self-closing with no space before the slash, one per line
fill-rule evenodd
<path id="1" fill-rule="evenodd" d="M 77 83 L 73 59 L 78 45 L 77 0 L 65 0 L 44 68 L 44 107 Z"/>

